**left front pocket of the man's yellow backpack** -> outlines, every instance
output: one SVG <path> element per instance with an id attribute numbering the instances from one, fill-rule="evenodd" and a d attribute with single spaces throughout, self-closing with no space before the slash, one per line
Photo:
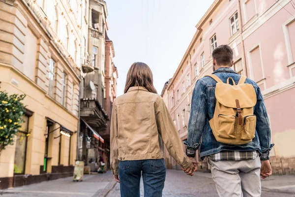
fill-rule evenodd
<path id="1" fill-rule="evenodd" d="M 236 138 L 235 128 L 236 128 L 236 116 L 219 114 L 218 131 L 217 131 L 218 137 L 227 138 L 227 139 Z"/>

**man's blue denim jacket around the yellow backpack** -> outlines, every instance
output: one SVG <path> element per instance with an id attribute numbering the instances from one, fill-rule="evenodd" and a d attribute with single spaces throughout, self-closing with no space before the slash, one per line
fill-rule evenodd
<path id="1" fill-rule="evenodd" d="M 218 76 L 224 83 L 229 77 L 232 77 L 237 84 L 240 78 L 240 75 L 229 67 L 219 68 L 213 74 Z M 252 84 L 257 95 L 257 103 L 254 106 L 254 114 L 257 117 L 255 138 L 247 144 L 229 145 L 216 141 L 209 125 L 209 120 L 213 118 L 216 105 L 216 81 L 208 76 L 197 81 L 192 96 L 187 141 L 184 144 L 188 148 L 195 150 L 201 146 L 200 157 L 202 160 L 204 160 L 205 156 L 224 150 L 258 150 L 262 154 L 261 160 L 269 159 L 269 151 L 273 144 L 270 143 L 271 133 L 266 106 L 258 85 L 249 78 L 246 79 L 245 83 Z"/>

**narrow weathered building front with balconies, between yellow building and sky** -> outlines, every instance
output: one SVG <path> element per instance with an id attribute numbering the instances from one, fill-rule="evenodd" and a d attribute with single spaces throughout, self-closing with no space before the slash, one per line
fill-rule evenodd
<path id="1" fill-rule="evenodd" d="M 109 161 L 111 109 L 116 98 L 118 72 L 113 61 L 114 45 L 107 35 L 107 4 L 104 0 L 89 0 L 87 6 L 88 37 L 85 37 L 87 50 L 82 58 L 78 149 L 79 159 L 84 160 L 91 171 L 97 171 L 101 160 L 105 164 Z"/>

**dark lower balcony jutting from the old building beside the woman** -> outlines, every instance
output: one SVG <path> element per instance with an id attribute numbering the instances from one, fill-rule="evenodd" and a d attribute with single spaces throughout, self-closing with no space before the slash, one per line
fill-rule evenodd
<path id="1" fill-rule="evenodd" d="M 80 116 L 90 127 L 95 131 L 105 131 L 107 129 L 107 121 L 109 118 L 98 100 L 94 98 L 81 99 L 80 107 Z"/>

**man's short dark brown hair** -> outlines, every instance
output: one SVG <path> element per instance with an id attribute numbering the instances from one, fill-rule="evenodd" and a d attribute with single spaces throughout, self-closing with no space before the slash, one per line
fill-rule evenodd
<path id="1" fill-rule="evenodd" d="M 234 58 L 233 49 L 229 45 L 220 45 L 213 50 L 212 58 L 216 60 L 217 66 L 232 66 Z"/>

